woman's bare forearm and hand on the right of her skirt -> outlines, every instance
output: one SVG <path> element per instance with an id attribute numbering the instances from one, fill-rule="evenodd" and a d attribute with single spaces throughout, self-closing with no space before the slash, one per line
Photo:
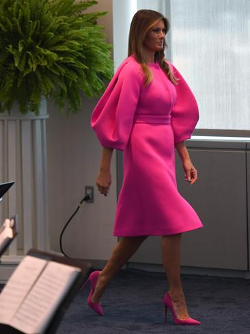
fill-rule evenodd
<path id="1" fill-rule="evenodd" d="M 182 159 L 182 166 L 184 168 L 186 181 L 189 181 L 191 184 L 195 183 L 197 180 L 197 170 L 191 162 L 186 145 L 184 142 L 178 142 L 175 144 L 175 147 L 180 155 L 180 159 Z"/>

